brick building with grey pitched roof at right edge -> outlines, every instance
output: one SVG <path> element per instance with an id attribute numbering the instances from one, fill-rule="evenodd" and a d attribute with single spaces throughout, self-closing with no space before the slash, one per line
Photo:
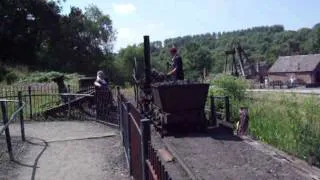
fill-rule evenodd
<path id="1" fill-rule="evenodd" d="M 270 81 L 286 83 L 293 77 L 299 84 L 319 84 L 320 54 L 280 56 L 268 76 Z"/>

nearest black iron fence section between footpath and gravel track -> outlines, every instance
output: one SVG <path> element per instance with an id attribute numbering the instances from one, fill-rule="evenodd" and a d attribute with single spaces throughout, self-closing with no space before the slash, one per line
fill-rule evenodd
<path id="1" fill-rule="evenodd" d="M 119 90 L 117 101 L 130 175 L 137 180 L 171 179 L 151 143 L 150 120 L 141 119 L 139 111 Z"/>

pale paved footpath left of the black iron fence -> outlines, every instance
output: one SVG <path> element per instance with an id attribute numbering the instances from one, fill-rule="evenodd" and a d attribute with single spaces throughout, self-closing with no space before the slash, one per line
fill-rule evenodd
<path id="1" fill-rule="evenodd" d="M 0 180 L 129 179 L 116 129 L 92 121 L 30 122 L 25 125 L 25 143 L 18 138 L 18 124 L 10 131 L 16 161 L 2 153 Z"/>

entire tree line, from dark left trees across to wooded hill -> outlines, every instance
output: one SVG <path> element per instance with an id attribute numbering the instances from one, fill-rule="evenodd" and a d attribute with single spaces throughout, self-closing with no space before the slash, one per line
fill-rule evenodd
<path id="1" fill-rule="evenodd" d="M 0 1 L 0 65 L 26 65 L 32 70 L 78 72 L 94 75 L 103 69 L 110 81 L 124 84 L 132 79 L 136 59 L 143 75 L 143 44 L 113 53 L 116 30 L 111 17 L 97 6 L 71 7 L 62 14 L 63 1 Z M 142 37 L 141 37 L 142 38 Z M 150 37 L 152 40 L 152 37 Z M 206 33 L 150 43 L 152 67 L 168 71 L 168 48 L 176 47 L 184 62 L 185 76 L 195 79 L 203 69 L 223 71 L 225 50 L 240 42 L 251 62 L 269 65 L 278 56 L 320 52 L 320 23 L 296 31 L 282 25 L 253 27 L 231 32 Z M 0 76 L 3 74 L 0 67 Z"/>

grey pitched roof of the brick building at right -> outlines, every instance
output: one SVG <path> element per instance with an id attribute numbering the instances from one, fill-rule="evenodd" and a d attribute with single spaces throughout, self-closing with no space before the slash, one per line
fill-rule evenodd
<path id="1" fill-rule="evenodd" d="M 320 63 L 320 54 L 280 56 L 269 72 L 312 72 Z"/>

